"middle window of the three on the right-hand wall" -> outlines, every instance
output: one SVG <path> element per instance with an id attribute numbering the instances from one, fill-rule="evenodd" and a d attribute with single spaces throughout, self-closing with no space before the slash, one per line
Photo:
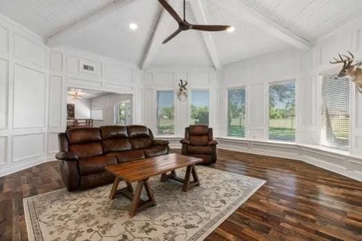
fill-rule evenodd
<path id="1" fill-rule="evenodd" d="M 296 84 L 294 81 L 269 86 L 269 139 L 296 139 Z"/>

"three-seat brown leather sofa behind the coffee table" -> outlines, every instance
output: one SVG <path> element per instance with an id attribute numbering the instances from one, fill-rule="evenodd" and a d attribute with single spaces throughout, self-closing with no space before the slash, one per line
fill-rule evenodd
<path id="1" fill-rule="evenodd" d="M 155 140 L 146 126 L 73 128 L 58 134 L 61 178 L 68 191 L 113 182 L 105 166 L 170 153 L 169 142 Z"/>

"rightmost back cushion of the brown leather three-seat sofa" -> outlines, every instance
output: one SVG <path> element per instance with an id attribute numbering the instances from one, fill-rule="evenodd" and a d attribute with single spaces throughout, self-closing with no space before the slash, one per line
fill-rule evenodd
<path id="1" fill-rule="evenodd" d="M 127 132 L 133 149 L 148 148 L 152 145 L 151 133 L 146 126 L 127 126 Z"/>

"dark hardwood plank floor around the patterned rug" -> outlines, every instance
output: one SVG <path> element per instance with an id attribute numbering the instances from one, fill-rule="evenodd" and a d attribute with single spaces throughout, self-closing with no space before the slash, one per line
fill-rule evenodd
<path id="1" fill-rule="evenodd" d="M 361 182 L 304 162 L 233 151 L 218 151 L 213 166 L 267 183 L 207 240 L 362 240 Z M 0 240 L 27 240 L 23 197 L 63 186 L 58 162 L 1 177 Z"/>

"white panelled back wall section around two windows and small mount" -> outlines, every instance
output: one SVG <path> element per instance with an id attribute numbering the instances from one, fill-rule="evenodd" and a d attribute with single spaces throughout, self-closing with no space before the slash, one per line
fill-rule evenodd
<path id="1" fill-rule="evenodd" d="M 178 90 L 179 79 L 189 82 L 187 88 L 210 91 L 209 125 L 213 126 L 215 135 L 218 135 L 218 73 L 212 68 L 155 68 L 144 73 L 144 124 L 149 126 L 153 133 L 156 127 L 156 93 L 157 90 Z M 191 93 L 190 93 L 191 94 Z M 180 102 L 175 98 L 175 136 L 182 137 L 184 128 L 189 126 L 189 99 Z"/>

